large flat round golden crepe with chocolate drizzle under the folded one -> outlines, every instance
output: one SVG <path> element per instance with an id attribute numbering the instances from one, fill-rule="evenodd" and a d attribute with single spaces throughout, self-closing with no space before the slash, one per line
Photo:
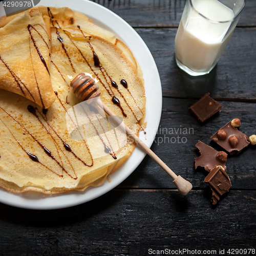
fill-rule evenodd
<path id="1" fill-rule="evenodd" d="M 51 60 L 43 56 L 51 62 L 52 89 L 44 88 L 55 92 L 56 100 L 48 102 L 51 106 L 46 111 L 46 102 L 35 104 L 29 97 L 0 90 L 0 186 L 16 193 L 33 190 L 45 194 L 98 186 L 129 158 L 135 144 L 128 139 L 118 151 L 93 159 L 85 139 L 72 139 L 66 115 L 79 101 L 70 91 L 70 81 L 80 72 L 90 74 L 99 85 L 101 100 L 138 134 L 145 115 L 142 72 L 131 51 L 114 34 L 68 8 L 33 8 L 8 20 L 2 29 L 17 18 L 31 17 L 32 10 L 36 15 L 39 12 L 45 23 L 51 18 Z M 43 14 L 48 14 L 48 19 Z M 5 19 L 0 20 L 0 26 L 5 23 Z M 47 48 L 46 32 L 43 37 Z M 41 65 L 41 61 L 34 65 Z M 0 73 L 0 84 L 4 77 Z M 45 74 L 44 78 L 48 77 Z M 10 76 L 6 80 L 15 84 Z M 105 143 L 96 146 L 104 150 Z"/>

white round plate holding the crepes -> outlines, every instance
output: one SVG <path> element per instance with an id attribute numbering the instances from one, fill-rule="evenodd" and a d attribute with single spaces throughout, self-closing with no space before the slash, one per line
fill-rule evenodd
<path id="1" fill-rule="evenodd" d="M 133 52 L 143 71 L 146 94 L 146 136 L 143 132 L 140 139 L 151 146 L 161 118 L 162 88 L 156 63 L 137 32 L 114 12 L 87 0 L 41 0 L 39 5 L 49 7 L 69 7 L 79 11 L 93 22 L 112 31 Z M 146 137 L 146 140 L 145 140 Z M 14 194 L 0 188 L 0 202 L 28 209 L 59 209 L 82 204 L 107 193 L 124 181 L 141 163 L 145 153 L 136 146 L 130 158 L 111 175 L 111 182 L 105 182 L 98 187 L 89 187 L 83 192 L 71 191 L 68 194 L 44 195 L 33 192 Z"/>

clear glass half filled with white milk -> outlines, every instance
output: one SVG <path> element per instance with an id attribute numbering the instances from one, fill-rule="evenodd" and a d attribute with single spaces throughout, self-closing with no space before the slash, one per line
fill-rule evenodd
<path id="1" fill-rule="evenodd" d="M 175 38 L 179 68 L 192 76 L 217 64 L 236 27 L 245 0 L 187 0 Z"/>

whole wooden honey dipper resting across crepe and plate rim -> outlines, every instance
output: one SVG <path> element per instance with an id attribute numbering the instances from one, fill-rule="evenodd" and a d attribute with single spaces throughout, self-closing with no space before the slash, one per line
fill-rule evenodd
<path id="1" fill-rule="evenodd" d="M 80 73 L 77 75 L 70 83 L 73 92 L 75 93 L 76 97 L 79 98 L 81 101 L 92 99 L 98 97 L 100 95 L 99 86 L 95 84 L 95 81 L 88 75 L 84 73 Z M 100 98 L 96 98 L 96 103 L 99 106 L 103 107 L 103 110 L 109 116 L 116 116 L 103 102 L 101 102 Z M 183 179 L 180 175 L 177 176 L 142 140 L 139 139 L 136 134 L 125 125 L 125 132 L 131 138 L 133 138 L 136 143 L 146 152 L 155 162 L 161 166 L 165 172 L 172 177 L 174 180 L 173 183 L 178 188 L 179 193 L 181 195 L 186 195 L 191 189 L 192 184 Z"/>

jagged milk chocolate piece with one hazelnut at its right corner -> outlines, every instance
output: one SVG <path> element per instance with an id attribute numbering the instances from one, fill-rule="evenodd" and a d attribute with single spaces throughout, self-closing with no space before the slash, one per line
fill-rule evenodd
<path id="1" fill-rule="evenodd" d="M 199 141 L 196 148 L 200 151 L 201 156 L 195 159 L 195 168 L 198 166 L 205 168 L 208 172 L 217 165 L 221 165 L 226 169 L 227 153 L 218 152 L 211 146 Z"/>

